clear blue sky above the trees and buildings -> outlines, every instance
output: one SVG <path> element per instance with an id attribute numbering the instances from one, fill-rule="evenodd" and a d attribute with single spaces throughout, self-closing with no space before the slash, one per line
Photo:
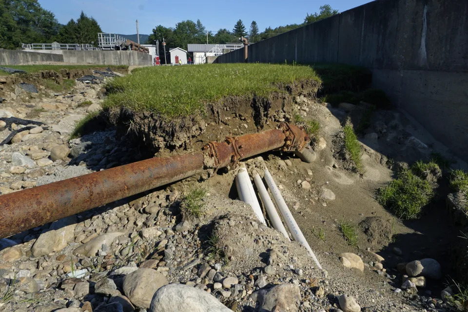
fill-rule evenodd
<path id="1" fill-rule="evenodd" d="M 125 35 L 137 33 L 135 20 L 140 34 L 151 34 L 159 24 L 174 27 L 181 20 L 197 19 L 214 33 L 219 28 L 232 30 L 239 19 L 247 30 L 255 20 L 263 31 L 268 26 L 301 23 L 307 13 L 319 12 L 323 4 L 343 12 L 367 2 L 370 0 L 39 0 L 59 23 L 76 20 L 83 10 L 104 32 Z"/>

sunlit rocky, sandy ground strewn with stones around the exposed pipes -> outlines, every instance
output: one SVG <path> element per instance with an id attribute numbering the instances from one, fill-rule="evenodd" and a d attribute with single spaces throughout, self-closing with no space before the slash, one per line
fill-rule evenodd
<path id="1" fill-rule="evenodd" d="M 69 140 L 77 120 L 101 109 L 97 80 L 78 81 L 64 94 L 41 86 L 38 93 L 3 90 L 2 195 L 147 157 L 112 127 Z M 324 270 L 237 199 L 233 170 L 2 238 L 0 310 L 448 311 L 441 241 L 448 234 L 394 220 L 373 198 L 391 179 L 389 159 L 422 159 L 438 143 L 401 113 L 378 113 L 363 140 L 366 171 L 353 174 L 335 139 L 358 108 L 305 97 L 295 102 L 299 114 L 322 125 L 316 160 L 274 152 L 241 166 L 269 168 Z M 194 187 L 207 192 L 199 217 L 183 210 Z M 440 215 L 427 217 L 429 227 L 448 222 Z M 356 247 L 338 230 L 344 220 L 359 224 Z M 394 234 L 412 242 L 395 243 Z M 416 234 L 424 238 L 412 239 Z"/>

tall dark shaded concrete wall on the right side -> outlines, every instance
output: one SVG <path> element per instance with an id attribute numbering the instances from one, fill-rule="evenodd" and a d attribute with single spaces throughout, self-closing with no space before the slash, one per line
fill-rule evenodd
<path id="1" fill-rule="evenodd" d="M 468 158 L 468 1 L 376 0 L 249 46 L 249 62 L 367 67 L 374 87 Z M 243 62 L 243 51 L 218 63 Z"/>

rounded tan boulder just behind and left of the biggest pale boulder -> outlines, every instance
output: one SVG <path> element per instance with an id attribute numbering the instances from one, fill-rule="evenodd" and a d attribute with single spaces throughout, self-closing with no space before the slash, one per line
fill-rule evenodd
<path id="1" fill-rule="evenodd" d="M 125 276 L 123 292 L 137 307 L 148 309 L 155 292 L 168 281 L 164 275 L 153 269 L 138 269 Z"/>

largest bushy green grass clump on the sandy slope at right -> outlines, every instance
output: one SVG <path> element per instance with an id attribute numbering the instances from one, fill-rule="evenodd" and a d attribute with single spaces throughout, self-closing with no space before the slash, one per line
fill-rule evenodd
<path id="1" fill-rule="evenodd" d="M 397 179 L 378 190 L 378 202 L 401 219 L 418 218 L 422 208 L 434 196 L 433 185 L 423 176 L 426 169 L 433 169 L 433 165 L 433 162 L 427 165 L 417 162 L 410 169 L 401 171 Z"/>

